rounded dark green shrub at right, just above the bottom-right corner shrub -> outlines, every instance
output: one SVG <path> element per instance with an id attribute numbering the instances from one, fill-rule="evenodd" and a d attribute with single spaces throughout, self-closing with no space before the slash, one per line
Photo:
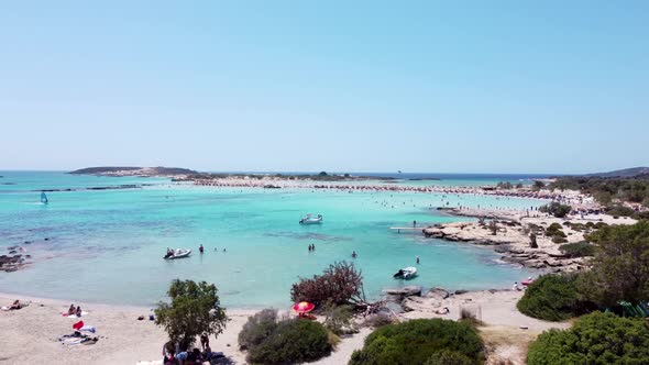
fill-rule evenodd
<path id="1" fill-rule="evenodd" d="M 579 311 L 575 275 L 543 275 L 527 287 L 516 307 L 529 317 L 563 321 Z"/>

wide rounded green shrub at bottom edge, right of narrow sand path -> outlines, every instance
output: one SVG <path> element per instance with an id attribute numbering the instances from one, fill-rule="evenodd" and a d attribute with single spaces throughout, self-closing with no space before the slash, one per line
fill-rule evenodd
<path id="1" fill-rule="evenodd" d="M 484 345 L 470 324 L 430 319 L 377 329 L 367 336 L 364 347 L 352 354 L 349 364 L 424 364 L 441 351 L 464 355 L 469 364 L 484 362 Z"/>

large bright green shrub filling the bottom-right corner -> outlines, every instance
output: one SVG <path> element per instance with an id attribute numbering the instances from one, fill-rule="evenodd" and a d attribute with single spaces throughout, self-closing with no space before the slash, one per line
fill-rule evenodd
<path id="1" fill-rule="evenodd" d="M 649 323 L 595 312 L 564 331 L 550 330 L 532 342 L 529 365 L 649 364 Z"/>

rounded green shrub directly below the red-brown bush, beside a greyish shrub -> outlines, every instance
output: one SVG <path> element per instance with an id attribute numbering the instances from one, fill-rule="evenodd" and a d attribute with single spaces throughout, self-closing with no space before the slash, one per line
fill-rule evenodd
<path id="1" fill-rule="evenodd" d="M 262 343 L 250 347 L 248 361 L 253 364 L 296 364 L 311 362 L 331 353 L 329 332 L 316 322 L 290 319 L 277 328 Z"/>

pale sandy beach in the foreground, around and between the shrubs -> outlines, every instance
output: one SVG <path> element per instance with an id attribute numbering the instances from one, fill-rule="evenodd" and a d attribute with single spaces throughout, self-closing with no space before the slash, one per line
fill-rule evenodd
<path id="1" fill-rule="evenodd" d="M 415 311 L 399 314 L 399 321 L 415 318 L 458 319 L 461 308 L 480 308 L 479 318 L 486 327 L 481 331 L 493 358 L 514 356 L 515 364 L 522 364 L 524 347 L 538 333 L 550 328 L 566 328 L 569 323 L 550 323 L 522 316 L 516 310 L 516 301 L 521 291 L 473 291 L 451 296 L 441 302 L 429 300 Z M 69 302 L 53 299 L 30 298 L 0 294 L 0 302 L 10 305 L 20 299 L 29 306 L 14 311 L 0 312 L 0 346 L 4 349 L 0 357 L 2 364 L 147 364 L 162 360 L 162 345 L 166 333 L 147 318 L 140 321 L 138 317 L 147 317 L 148 308 L 119 307 L 84 301 L 74 301 L 88 313 L 80 320 L 97 328 L 94 334 L 99 339 L 92 345 L 65 345 L 58 341 L 64 334 L 73 333 L 73 324 L 78 319 L 65 318 Z M 447 316 L 436 314 L 435 310 L 448 307 Z M 223 352 L 233 364 L 245 364 L 245 354 L 238 350 L 238 334 L 254 310 L 229 309 L 231 321 L 226 331 L 215 340 L 210 339 L 213 351 Z M 343 339 L 336 352 L 329 357 L 314 364 L 345 364 L 354 350 L 363 346 L 371 329 Z M 510 336 L 510 333 L 520 333 Z M 498 339 L 505 340 L 498 340 Z M 520 356 L 516 357 L 519 354 Z"/>

